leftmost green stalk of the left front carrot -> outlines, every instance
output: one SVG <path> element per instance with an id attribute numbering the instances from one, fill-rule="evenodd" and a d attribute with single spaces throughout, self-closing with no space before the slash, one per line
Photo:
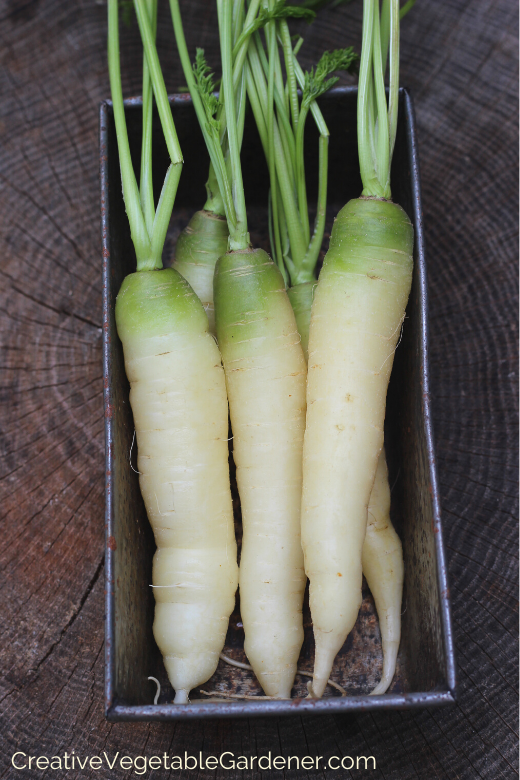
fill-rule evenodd
<path id="1" fill-rule="evenodd" d="M 119 0 L 108 0 L 108 70 L 110 76 L 110 91 L 116 126 L 119 164 L 123 183 L 123 198 L 125 201 L 130 234 L 137 258 L 137 270 L 152 270 L 156 267 L 151 259 L 151 243 L 146 229 L 146 223 L 141 208 L 139 190 L 132 167 L 130 144 L 126 129 L 125 109 L 123 104 L 123 89 L 121 86 L 121 68 L 119 64 Z M 160 266 L 158 266 L 160 267 Z"/>

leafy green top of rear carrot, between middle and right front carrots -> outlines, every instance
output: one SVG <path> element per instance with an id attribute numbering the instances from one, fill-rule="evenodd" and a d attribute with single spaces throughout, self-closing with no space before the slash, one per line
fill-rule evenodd
<path id="1" fill-rule="evenodd" d="M 323 242 L 327 210 L 329 130 L 316 102 L 336 82 L 332 73 L 354 71 L 353 49 L 325 52 L 316 68 L 304 73 L 293 47 L 287 20 L 270 19 L 265 44 L 252 36 L 247 61 L 247 89 L 269 167 L 269 236 L 273 258 L 288 287 L 304 353 L 307 353 L 316 264 Z M 283 52 L 285 83 L 280 49 Z M 301 99 L 298 87 L 302 90 Z M 304 133 L 309 112 L 319 132 L 318 195 L 311 234 L 304 164 Z"/>

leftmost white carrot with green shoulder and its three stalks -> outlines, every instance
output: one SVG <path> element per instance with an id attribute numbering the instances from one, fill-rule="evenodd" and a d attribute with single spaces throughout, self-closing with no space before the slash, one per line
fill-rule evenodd
<path id="1" fill-rule="evenodd" d="M 137 271 L 116 301 L 116 325 L 130 382 L 139 483 L 157 551 L 154 635 L 177 703 L 211 677 L 234 606 L 238 567 L 228 470 L 224 371 L 208 318 L 189 284 L 162 269 L 162 249 L 182 155 L 150 20 L 135 8 L 145 47 L 141 193 L 130 158 L 119 71 L 118 0 L 109 0 L 109 70 L 123 194 Z M 151 11 L 151 12 L 150 12 Z M 152 96 L 172 158 L 155 211 L 151 179 Z M 146 140 L 148 138 L 148 140 Z"/>

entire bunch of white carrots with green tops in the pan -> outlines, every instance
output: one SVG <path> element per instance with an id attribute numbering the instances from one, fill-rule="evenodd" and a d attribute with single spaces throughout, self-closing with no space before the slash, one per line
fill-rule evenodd
<path id="1" fill-rule="evenodd" d="M 288 699 L 303 642 L 307 578 L 315 639 L 309 696 L 330 682 L 356 621 L 364 574 L 382 637 L 383 694 L 400 640 L 403 559 L 390 522 L 386 393 L 412 280 L 413 228 L 392 201 L 399 21 L 410 6 L 363 0 L 361 57 L 299 64 L 285 0 L 216 0 L 221 80 L 184 38 L 184 76 L 208 151 L 207 199 L 163 268 L 183 157 L 157 55 L 157 0 L 134 0 L 143 44 L 142 150 L 132 167 L 119 63 L 119 0 L 108 0 L 108 61 L 123 196 L 137 269 L 116 303 L 130 382 L 141 492 L 157 550 L 154 636 L 175 702 L 215 672 L 240 588 L 244 650 L 266 696 Z M 412 3 L 413 4 L 413 3 Z M 388 69 L 388 98 L 385 72 Z M 329 130 L 317 102 L 339 70 L 359 70 L 363 190 L 337 215 L 317 276 L 327 207 Z M 170 165 L 157 198 L 152 115 Z M 251 245 L 241 168 L 249 104 L 269 172 L 271 257 Z M 304 137 L 318 130 L 311 228 Z M 346 130 L 346 128 L 345 128 Z M 247 171 L 245 171 L 247 176 Z M 233 524 L 228 422 L 240 496 Z M 341 686 L 331 683 L 344 694 Z"/>

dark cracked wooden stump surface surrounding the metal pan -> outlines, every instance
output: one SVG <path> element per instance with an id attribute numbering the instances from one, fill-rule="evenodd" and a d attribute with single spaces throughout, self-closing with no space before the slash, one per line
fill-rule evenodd
<path id="1" fill-rule="evenodd" d="M 215 62 L 213 3 L 183 6 L 190 46 L 205 46 Z M 305 28 L 305 64 L 326 47 L 359 46 L 360 10 L 355 0 Z M 16 750 L 372 755 L 372 771 L 286 775 L 516 777 L 517 3 L 418 0 L 402 29 L 401 81 L 415 99 L 420 140 L 458 704 L 196 725 L 109 725 L 102 710 L 105 13 L 95 0 L 0 2 L 0 777 L 125 774 L 16 771 Z M 122 49 L 125 94 L 139 94 L 135 25 Z M 183 78 L 164 4 L 159 49 L 174 91 Z M 197 774 L 215 772 L 182 776 Z M 217 776 L 271 774 L 283 773 Z M 169 776 L 181 775 L 153 773 Z"/>

